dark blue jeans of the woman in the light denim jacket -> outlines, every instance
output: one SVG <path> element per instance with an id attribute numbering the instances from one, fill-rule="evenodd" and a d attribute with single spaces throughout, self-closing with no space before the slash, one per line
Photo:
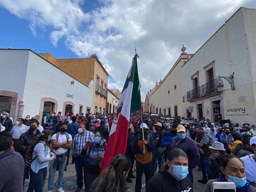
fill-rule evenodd
<path id="1" fill-rule="evenodd" d="M 39 169 L 37 173 L 33 172 L 32 169 L 29 171 L 30 181 L 27 192 L 43 192 L 44 181 L 47 175 L 47 167 Z"/>

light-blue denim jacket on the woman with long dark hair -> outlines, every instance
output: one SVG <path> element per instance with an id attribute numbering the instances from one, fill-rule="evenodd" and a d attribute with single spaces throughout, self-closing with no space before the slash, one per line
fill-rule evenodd
<path id="1" fill-rule="evenodd" d="M 48 146 L 46 146 L 43 142 L 36 144 L 32 154 L 32 159 L 35 157 L 36 159 L 31 163 L 31 169 L 33 172 L 37 173 L 44 162 L 50 162 L 54 159 L 51 157 L 52 153 L 48 155 L 48 150 L 50 151 Z"/>

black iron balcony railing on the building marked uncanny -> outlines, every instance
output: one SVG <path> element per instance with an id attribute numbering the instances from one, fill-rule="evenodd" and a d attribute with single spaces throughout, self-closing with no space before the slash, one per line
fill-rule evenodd
<path id="1" fill-rule="evenodd" d="M 187 92 L 187 101 L 194 101 L 203 99 L 206 97 L 211 97 L 213 95 L 220 94 L 221 91 L 218 91 L 217 87 L 218 79 L 214 79 L 211 82 L 208 82 L 196 89 L 192 89 Z M 183 102 L 185 102 L 185 98 L 183 98 Z"/>

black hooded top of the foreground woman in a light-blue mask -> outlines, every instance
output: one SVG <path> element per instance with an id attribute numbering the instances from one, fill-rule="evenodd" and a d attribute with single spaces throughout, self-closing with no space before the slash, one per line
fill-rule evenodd
<path id="1" fill-rule="evenodd" d="M 160 169 L 159 172 L 153 176 L 147 185 L 146 192 L 193 192 L 193 187 L 188 179 L 177 181 L 172 175 L 167 172 L 165 168 Z"/>

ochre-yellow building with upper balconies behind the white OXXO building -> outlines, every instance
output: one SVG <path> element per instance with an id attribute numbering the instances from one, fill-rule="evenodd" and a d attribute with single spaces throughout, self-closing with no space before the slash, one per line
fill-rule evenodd
<path id="1" fill-rule="evenodd" d="M 50 53 L 38 55 L 86 86 L 93 80 L 92 109 L 86 108 L 86 113 L 105 113 L 108 98 L 108 72 L 96 55 L 91 55 L 90 58 L 75 59 L 56 59 Z"/>

